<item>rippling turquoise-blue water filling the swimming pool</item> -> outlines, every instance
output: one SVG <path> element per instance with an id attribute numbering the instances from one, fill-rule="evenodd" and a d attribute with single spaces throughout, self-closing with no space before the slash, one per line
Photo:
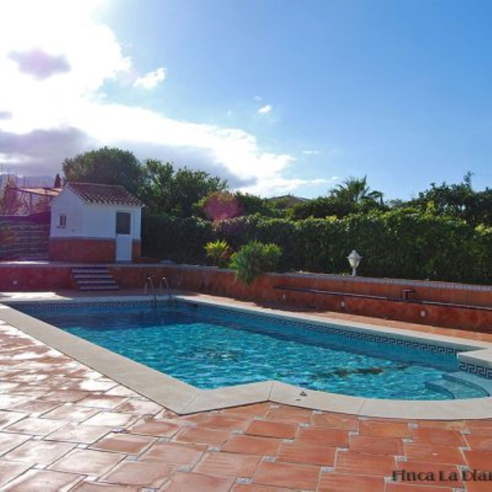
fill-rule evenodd
<path id="1" fill-rule="evenodd" d="M 443 400 L 426 387 L 458 370 L 427 353 L 189 303 L 21 308 L 73 335 L 199 388 L 276 379 L 370 398 Z M 465 391 L 461 398 L 484 396 Z"/>

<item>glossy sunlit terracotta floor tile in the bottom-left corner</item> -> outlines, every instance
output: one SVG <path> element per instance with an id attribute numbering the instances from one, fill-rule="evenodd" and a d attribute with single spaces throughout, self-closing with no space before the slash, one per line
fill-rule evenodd
<path id="1" fill-rule="evenodd" d="M 9 492 L 65 492 L 70 490 L 82 475 L 48 470 L 29 470 L 10 482 L 3 491 Z"/>

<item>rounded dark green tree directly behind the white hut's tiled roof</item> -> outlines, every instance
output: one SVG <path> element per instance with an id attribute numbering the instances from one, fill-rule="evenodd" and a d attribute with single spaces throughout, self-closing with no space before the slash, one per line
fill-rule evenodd
<path id="1" fill-rule="evenodd" d="M 62 164 L 66 181 L 120 184 L 138 195 L 145 182 L 145 170 L 132 152 L 103 147 L 66 158 Z"/>

